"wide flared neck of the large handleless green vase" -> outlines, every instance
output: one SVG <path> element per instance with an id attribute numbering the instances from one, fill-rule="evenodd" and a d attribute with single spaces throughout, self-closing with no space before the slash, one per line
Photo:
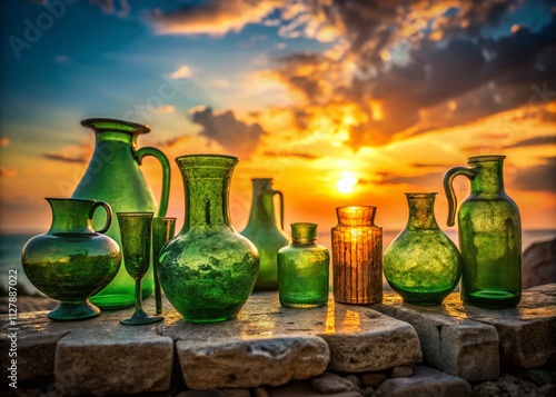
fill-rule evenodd
<path id="1" fill-rule="evenodd" d="M 228 201 L 237 158 L 191 155 L 178 157 L 176 162 L 183 178 L 186 196 L 182 231 L 193 227 L 231 227 Z"/>

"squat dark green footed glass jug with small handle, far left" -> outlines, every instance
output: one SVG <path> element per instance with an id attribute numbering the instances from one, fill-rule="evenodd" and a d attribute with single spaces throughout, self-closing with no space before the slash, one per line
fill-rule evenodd
<path id="1" fill-rule="evenodd" d="M 103 201 L 46 198 L 52 209 L 50 229 L 23 247 L 21 264 L 29 280 L 46 296 L 60 300 L 48 314 L 52 320 L 80 320 L 100 310 L 88 298 L 105 288 L 121 264 L 118 244 L 102 235 L 112 221 Z M 97 208 L 106 209 L 105 226 L 92 229 Z"/>

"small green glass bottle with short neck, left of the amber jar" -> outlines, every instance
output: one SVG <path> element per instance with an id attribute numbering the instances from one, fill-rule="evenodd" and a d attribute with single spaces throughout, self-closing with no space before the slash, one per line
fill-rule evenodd
<path id="1" fill-rule="evenodd" d="M 328 301 L 330 254 L 315 244 L 317 224 L 291 224 L 291 244 L 278 251 L 280 304 L 296 308 L 325 306 Z"/>

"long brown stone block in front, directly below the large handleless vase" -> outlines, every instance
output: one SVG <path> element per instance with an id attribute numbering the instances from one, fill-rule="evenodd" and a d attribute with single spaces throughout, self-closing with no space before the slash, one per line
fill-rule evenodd
<path id="1" fill-rule="evenodd" d="M 315 336 L 176 343 L 179 363 L 191 389 L 282 385 L 325 371 L 330 353 Z"/>

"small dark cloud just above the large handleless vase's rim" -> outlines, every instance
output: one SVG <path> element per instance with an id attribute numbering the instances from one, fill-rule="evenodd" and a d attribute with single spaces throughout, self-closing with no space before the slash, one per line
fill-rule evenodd
<path id="1" fill-rule="evenodd" d="M 215 140 L 230 153 L 240 158 L 249 158 L 257 148 L 265 132 L 258 123 L 247 125 L 237 120 L 232 111 L 215 115 L 211 108 L 197 110 L 192 121 L 203 127 L 201 136 Z"/>

